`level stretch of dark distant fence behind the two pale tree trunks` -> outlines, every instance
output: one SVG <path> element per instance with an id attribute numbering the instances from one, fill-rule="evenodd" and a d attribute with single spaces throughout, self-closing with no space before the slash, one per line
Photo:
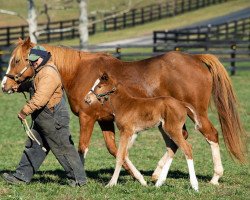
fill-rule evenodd
<path id="1" fill-rule="evenodd" d="M 89 21 L 94 21 L 95 18 L 91 17 Z M 51 22 L 49 24 L 40 23 L 38 29 L 41 30 L 38 37 L 38 42 L 50 42 L 56 40 L 72 39 L 79 37 L 78 32 L 79 20 L 67 20 Z M 25 26 L 12 26 L 0 28 L 0 46 L 10 46 L 18 38 L 25 38 L 29 35 L 28 25 Z M 89 26 L 89 34 L 95 33 L 95 24 Z"/>

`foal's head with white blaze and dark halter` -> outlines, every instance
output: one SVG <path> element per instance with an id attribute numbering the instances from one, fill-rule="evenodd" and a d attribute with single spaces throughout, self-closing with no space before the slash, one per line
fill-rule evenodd
<path id="1" fill-rule="evenodd" d="M 116 85 L 117 82 L 104 72 L 86 95 L 85 102 L 89 105 L 97 101 L 104 104 L 104 102 L 108 100 L 109 95 L 116 91 Z"/>

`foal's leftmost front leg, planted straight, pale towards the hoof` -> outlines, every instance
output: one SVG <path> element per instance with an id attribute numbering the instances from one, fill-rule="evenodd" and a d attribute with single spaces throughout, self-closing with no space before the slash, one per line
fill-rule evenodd
<path id="1" fill-rule="evenodd" d="M 121 171 L 122 164 L 124 163 L 125 157 L 127 155 L 129 139 L 130 138 L 128 134 L 126 134 L 125 132 L 121 132 L 119 147 L 118 147 L 117 156 L 116 156 L 115 171 L 107 187 L 112 187 L 117 184 L 117 180 Z"/>

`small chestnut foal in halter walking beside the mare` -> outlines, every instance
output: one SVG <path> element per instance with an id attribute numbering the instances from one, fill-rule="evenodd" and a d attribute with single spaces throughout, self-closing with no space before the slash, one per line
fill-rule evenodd
<path id="1" fill-rule="evenodd" d="M 178 145 L 184 152 L 188 164 L 190 182 L 194 190 L 198 191 L 198 181 L 195 175 L 191 145 L 182 135 L 182 127 L 187 113 L 195 121 L 195 127 L 201 128 L 200 121 L 194 108 L 187 103 L 172 97 L 135 98 L 130 96 L 121 83 L 117 83 L 106 73 L 99 79 L 99 83 L 85 97 L 88 104 L 98 99 L 101 103 L 108 101 L 113 110 L 115 121 L 120 130 L 119 148 L 116 157 L 116 167 L 112 179 L 107 186 L 117 184 L 117 179 L 124 161 L 127 162 L 136 179 L 142 185 L 147 185 L 142 174 L 135 168 L 128 157 L 128 149 L 132 146 L 136 134 L 147 128 L 159 126 L 160 130 Z M 171 154 L 170 154 L 171 156 Z M 156 186 L 161 186 L 166 180 L 172 158 L 163 166 Z"/>

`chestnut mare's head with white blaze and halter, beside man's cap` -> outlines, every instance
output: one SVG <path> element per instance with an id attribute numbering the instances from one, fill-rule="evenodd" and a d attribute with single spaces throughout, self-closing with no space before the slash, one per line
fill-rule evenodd
<path id="1" fill-rule="evenodd" d="M 30 67 L 28 54 L 34 46 L 30 38 L 26 40 L 19 39 L 16 48 L 13 50 L 7 72 L 2 81 L 2 91 L 8 94 L 17 91 L 19 85 L 34 75 Z"/>

